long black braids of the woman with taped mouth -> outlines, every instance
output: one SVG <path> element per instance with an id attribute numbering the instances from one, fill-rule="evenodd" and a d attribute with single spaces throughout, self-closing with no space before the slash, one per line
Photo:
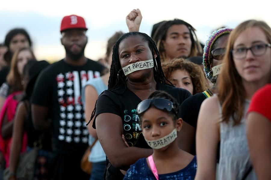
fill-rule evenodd
<path id="1" fill-rule="evenodd" d="M 158 49 L 157 49 L 154 41 L 152 40 L 152 38 L 149 37 L 147 34 L 142 33 L 142 32 L 128 32 L 128 33 L 125 33 L 124 35 L 122 35 L 117 40 L 117 42 L 115 43 L 115 45 L 113 47 L 112 64 L 111 64 L 110 76 L 109 76 L 109 80 L 108 80 L 108 90 L 110 91 L 110 90 L 113 90 L 113 89 L 119 87 L 119 85 L 126 82 L 126 80 L 127 80 L 126 76 L 123 73 L 121 65 L 120 65 L 119 45 L 124 39 L 126 39 L 126 38 L 128 38 L 130 36 L 139 36 L 145 42 L 148 42 L 148 45 L 149 45 L 149 48 L 150 48 L 151 54 L 152 54 L 152 59 L 154 61 L 154 67 L 153 67 L 154 80 L 156 82 L 160 82 L 160 83 L 163 83 L 163 84 L 173 86 L 173 84 L 166 78 L 166 76 L 163 73 L 162 66 L 161 66 L 160 54 L 159 54 Z M 155 55 L 157 55 L 156 58 L 155 58 Z M 95 108 L 91 113 L 91 117 L 90 117 L 89 122 L 95 116 L 96 104 L 97 104 L 97 101 L 95 103 Z M 87 123 L 87 125 L 89 124 L 89 122 Z"/>

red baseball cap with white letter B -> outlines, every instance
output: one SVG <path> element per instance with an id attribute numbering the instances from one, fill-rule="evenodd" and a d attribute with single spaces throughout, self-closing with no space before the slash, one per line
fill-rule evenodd
<path id="1" fill-rule="evenodd" d="M 67 29 L 85 29 L 86 22 L 83 17 L 77 15 L 69 15 L 65 16 L 61 21 L 60 32 L 67 30 Z"/>

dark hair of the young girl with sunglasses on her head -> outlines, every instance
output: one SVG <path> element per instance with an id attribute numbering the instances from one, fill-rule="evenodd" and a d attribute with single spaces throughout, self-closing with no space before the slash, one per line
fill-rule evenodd
<path id="1" fill-rule="evenodd" d="M 171 101 L 173 103 L 173 108 L 174 108 L 176 114 L 178 114 L 178 112 L 179 112 L 179 103 L 170 94 L 168 94 L 165 91 L 154 91 L 148 97 L 148 99 L 157 99 L 157 98 L 163 98 L 163 99 L 167 99 L 167 100 Z M 154 107 L 154 106 L 151 105 L 150 107 Z M 175 113 L 173 113 L 173 112 L 167 112 L 167 113 L 170 114 L 170 116 L 172 117 L 173 121 L 176 121 L 178 119 L 178 117 L 176 116 Z M 143 114 L 144 113 L 142 113 L 142 114 L 139 115 L 139 121 L 140 121 L 141 117 L 143 116 Z M 141 121 L 140 121 L 140 123 L 141 123 Z"/>

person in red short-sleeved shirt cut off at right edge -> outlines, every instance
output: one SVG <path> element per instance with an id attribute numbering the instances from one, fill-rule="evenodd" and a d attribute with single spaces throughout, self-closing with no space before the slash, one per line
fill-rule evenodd
<path id="1" fill-rule="evenodd" d="M 249 153 L 258 180 L 271 179 L 271 84 L 252 97 L 247 115 Z"/>

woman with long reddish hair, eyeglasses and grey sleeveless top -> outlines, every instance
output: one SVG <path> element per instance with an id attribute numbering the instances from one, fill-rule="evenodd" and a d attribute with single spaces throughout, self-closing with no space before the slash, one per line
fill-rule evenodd
<path id="1" fill-rule="evenodd" d="M 245 114 L 254 92 L 270 80 L 270 42 L 271 29 L 262 21 L 245 21 L 231 32 L 218 95 L 202 103 L 198 116 L 196 179 L 256 179 L 245 134 Z"/>

